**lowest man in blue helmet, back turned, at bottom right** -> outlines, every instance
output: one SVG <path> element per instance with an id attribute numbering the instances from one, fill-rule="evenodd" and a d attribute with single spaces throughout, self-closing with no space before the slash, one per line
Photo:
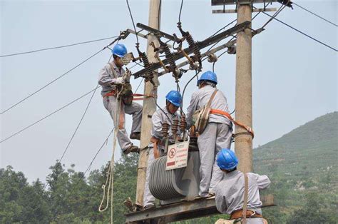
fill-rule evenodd
<path id="1" fill-rule="evenodd" d="M 231 220 L 243 218 L 245 194 L 245 175 L 237 170 L 238 159 L 233 151 L 227 148 L 217 154 L 217 166 L 225 173 L 217 183 L 215 202 L 220 213 L 231 215 Z M 260 190 L 270 185 L 267 175 L 247 173 L 247 223 L 263 224 L 262 201 Z"/>

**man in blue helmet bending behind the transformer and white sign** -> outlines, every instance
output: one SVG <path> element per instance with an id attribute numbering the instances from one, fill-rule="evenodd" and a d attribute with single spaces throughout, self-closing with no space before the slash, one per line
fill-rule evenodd
<path id="1" fill-rule="evenodd" d="M 149 190 L 149 176 L 150 176 L 150 166 L 159 156 L 165 156 L 165 139 L 162 134 L 162 124 L 168 123 L 169 125 L 169 145 L 175 143 L 175 136 L 171 132 L 171 125 L 173 120 L 179 120 L 180 117 L 176 111 L 182 103 L 182 96 L 178 91 L 170 91 L 167 96 L 165 96 L 165 107 L 159 108 L 152 116 L 153 126 L 151 128 L 151 138 L 148 146 L 148 165 L 147 173 L 145 175 L 145 190 L 143 195 L 143 209 L 147 210 L 155 207 L 155 198 L 150 193 Z M 180 135 L 180 130 L 178 130 L 177 135 Z"/>

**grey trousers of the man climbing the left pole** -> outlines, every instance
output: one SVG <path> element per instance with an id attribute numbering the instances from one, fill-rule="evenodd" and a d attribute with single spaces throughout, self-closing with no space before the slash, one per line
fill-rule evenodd
<path id="1" fill-rule="evenodd" d="M 142 106 L 138 103 L 131 103 L 131 105 L 124 105 L 121 103 L 120 106 L 120 119 L 119 127 L 116 126 L 116 113 L 117 113 L 117 104 L 116 104 L 115 96 L 107 96 L 103 97 L 103 105 L 107 109 L 107 111 L 111 114 L 111 118 L 113 118 L 114 126 L 118 129 L 118 144 L 120 145 L 122 151 L 125 151 L 129 146 L 133 145 L 131 143 L 128 133 L 126 131 L 126 113 L 131 114 L 133 116 L 133 124 L 131 126 L 131 133 L 140 132 L 141 121 L 142 121 Z"/>

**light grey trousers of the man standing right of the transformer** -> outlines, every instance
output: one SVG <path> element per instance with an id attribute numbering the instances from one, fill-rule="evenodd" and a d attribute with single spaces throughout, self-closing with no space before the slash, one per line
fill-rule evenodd
<path id="1" fill-rule="evenodd" d="M 201 197 L 215 193 L 215 187 L 222 180 L 223 172 L 217 166 L 216 155 L 222 148 L 230 148 L 232 126 L 210 122 L 198 136 L 200 151 L 200 192 Z"/>

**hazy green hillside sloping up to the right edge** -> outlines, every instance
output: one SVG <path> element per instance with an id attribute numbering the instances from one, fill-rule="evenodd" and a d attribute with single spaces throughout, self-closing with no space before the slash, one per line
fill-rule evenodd
<path id="1" fill-rule="evenodd" d="M 337 146 L 338 112 L 334 112 L 255 148 L 255 172 L 270 176 L 268 192 L 278 205 L 265 214 L 279 217 L 279 222 L 273 218 L 277 223 L 292 223 L 290 215 L 307 209 L 309 200 L 315 199 L 317 210 L 332 211 L 337 218 Z"/>

